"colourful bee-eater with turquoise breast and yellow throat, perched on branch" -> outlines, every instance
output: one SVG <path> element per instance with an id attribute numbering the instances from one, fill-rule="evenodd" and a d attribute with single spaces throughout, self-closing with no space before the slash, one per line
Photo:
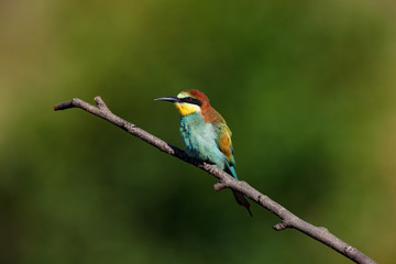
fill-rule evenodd
<path id="1" fill-rule="evenodd" d="M 177 96 L 154 100 L 168 101 L 176 106 L 180 113 L 179 130 L 187 156 L 216 164 L 238 179 L 231 130 L 221 114 L 210 106 L 202 91 L 189 89 Z M 237 190 L 232 190 L 232 194 L 237 202 L 253 216 L 246 197 Z"/>

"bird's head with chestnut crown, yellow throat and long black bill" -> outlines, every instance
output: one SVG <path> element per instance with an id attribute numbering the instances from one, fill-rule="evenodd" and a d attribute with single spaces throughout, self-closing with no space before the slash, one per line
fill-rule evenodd
<path id="1" fill-rule="evenodd" d="M 199 90 L 185 90 L 176 97 L 161 97 L 157 101 L 169 101 L 175 103 L 182 116 L 201 112 L 202 108 L 209 106 L 209 99 Z"/>

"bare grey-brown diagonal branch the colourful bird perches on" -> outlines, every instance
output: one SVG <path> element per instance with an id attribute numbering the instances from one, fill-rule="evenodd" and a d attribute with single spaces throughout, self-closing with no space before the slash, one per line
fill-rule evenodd
<path id="1" fill-rule="evenodd" d="M 282 221 L 274 226 L 274 229 L 277 231 L 292 228 L 296 229 L 312 239 L 330 246 L 334 251 L 340 254 L 346 256 L 351 261 L 360 264 L 376 264 L 375 261 L 371 260 L 369 256 L 356 250 L 355 248 L 346 244 L 332 233 L 330 233 L 326 228 L 312 226 L 302 219 L 298 218 L 289 210 L 272 200 L 270 197 L 261 194 L 258 190 L 254 189 L 248 183 L 238 180 L 233 178 L 231 175 L 218 168 L 216 165 L 199 162 L 197 160 L 189 158 L 184 151 L 180 148 L 166 143 L 165 141 L 150 134 L 148 132 L 140 129 L 133 123 L 130 123 L 116 114 L 113 114 L 109 108 L 106 106 L 103 100 L 100 97 L 96 97 L 95 101 L 97 107 L 85 102 L 78 98 L 72 99 L 69 101 L 61 102 L 54 107 L 54 110 L 65 110 L 69 108 L 80 108 L 87 112 L 90 112 L 95 116 L 98 116 L 110 123 L 118 125 L 119 128 L 125 130 L 128 133 L 138 136 L 139 139 L 147 142 L 148 144 L 155 146 L 162 152 L 165 152 L 172 156 L 175 156 L 186 163 L 190 163 L 207 173 L 213 175 L 216 178 L 220 180 L 220 183 L 216 184 L 213 187 L 216 190 L 220 190 L 223 188 L 230 188 L 233 190 L 238 190 L 244 194 L 250 199 L 254 200 L 260 206 L 264 207 L 268 211 L 273 212 L 275 216 L 282 219 Z"/>

